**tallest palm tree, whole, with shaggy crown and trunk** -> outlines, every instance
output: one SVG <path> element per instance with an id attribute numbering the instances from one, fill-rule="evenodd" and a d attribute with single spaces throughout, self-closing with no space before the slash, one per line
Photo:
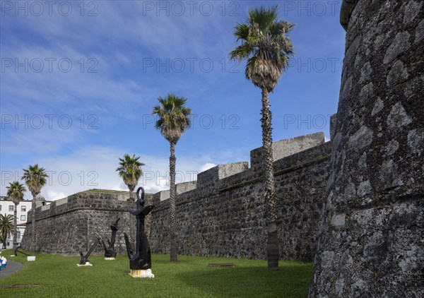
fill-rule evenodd
<path id="1" fill-rule="evenodd" d="M 278 270 L 277 202 L 274 195 L 271 111 L 269 92 L 273 92 L 278 79 L 293 56 L 293 45 L 287 34 L 293 24 L 277 20 L 278 6 L 253 8 L 246 23 L 237 23 L 234 35 L 241 44 L 230 52 L 230 59 L 247 59 L 246 78 L 261 88 L 261 127 L 264 154 L 265 202 L 268 239 L 266 255 L 269 270 Z"/>

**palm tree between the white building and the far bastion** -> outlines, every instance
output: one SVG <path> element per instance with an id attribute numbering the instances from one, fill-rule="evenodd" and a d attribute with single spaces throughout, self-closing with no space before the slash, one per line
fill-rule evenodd
<path id="1" fill-rule="evenodd" d="M 25 181 L 25 184 L 28 186 L 28 190 L 33 195 L 33 203 L 31 204 L 31 234 L 33 238 L 31 241 L 31 250 L 37 249 L 37 232 L 35 230 L 35 208 L 37 206 L 35 203 L 36 196 L 40 193 L 42 186 L 46 184 L 46 178 L 47 174 L 45 169 L 38 167 L 37 164 L 33 166 L 29 165 L 28 169 L 23 169 L 22 179 Z"/>

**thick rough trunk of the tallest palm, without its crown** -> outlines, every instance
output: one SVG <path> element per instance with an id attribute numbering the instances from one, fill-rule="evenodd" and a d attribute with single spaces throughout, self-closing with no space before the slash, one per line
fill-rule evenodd
<path id="1" fill-rule="evenodd" d="M 268 230 L 266 242 L 266 258 L 268 259 L 268 269 L 278 270 L 278 229 L 277 229 L 277 202 L 274 193 L 273 157 L 272 157 L 272 114 L 269 110 L 269 93 L 266 88 L 262 88 L 262 109 L 261 109 L 262 143 L 264 157 L 264 177 L 265 177 L 265 214 Z"/>

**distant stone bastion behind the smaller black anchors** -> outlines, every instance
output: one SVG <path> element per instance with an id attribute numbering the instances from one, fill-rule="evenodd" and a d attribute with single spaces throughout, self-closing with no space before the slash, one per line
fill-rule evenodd
<path id="1" fill-rule="evenodd" d="M 134 242 L 134 230 L 129 229 L 129 208 L 135 208 L 134 202 L 127 202 L 128 193 L 81 192 L 67 198 L 54 201 L 37 208 L 36 228 L 37 247 L 35 251 L 49 254 L 78 254 L 88 251 L 95 239 L 102 237 L 107 244 L 112 231 L 110 225 L 120 217 L 115 250 L 119 254 L 126 252 L 124 232 Z M 151 194 L 146 194 L 150 199 Z M 27 223 L 21 242 L 24 249 L 30 249 L 30 225 Z M 102 253 L 98 245 L 94 254 Z"/>

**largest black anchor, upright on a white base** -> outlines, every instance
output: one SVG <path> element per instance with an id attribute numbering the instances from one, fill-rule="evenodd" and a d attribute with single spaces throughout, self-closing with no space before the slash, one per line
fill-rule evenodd
<path id="1" fill-rule="evenodd" d="M 141 192 L 141 196 L 140 196 Z M 129 213 L 136 216 L 136 250 L 133 255 L 131 244 L 129 243 L 128 236 L 124 233 L 126 252 L 129 258 L 129 268 L 131 269 L 131 276 L 133 277 L 154 277 L 151 270 L 148 273 L 143 273 L 141 270 L 148 270 L 152 267 L 151 250 L 148 245 L 146 232 L 144 232 L 144 217 L 155 208 L 154 205 L 144 207 L 144 189 L 139 187 L 137 189 L 137 209 L 128 210 Z"/>

